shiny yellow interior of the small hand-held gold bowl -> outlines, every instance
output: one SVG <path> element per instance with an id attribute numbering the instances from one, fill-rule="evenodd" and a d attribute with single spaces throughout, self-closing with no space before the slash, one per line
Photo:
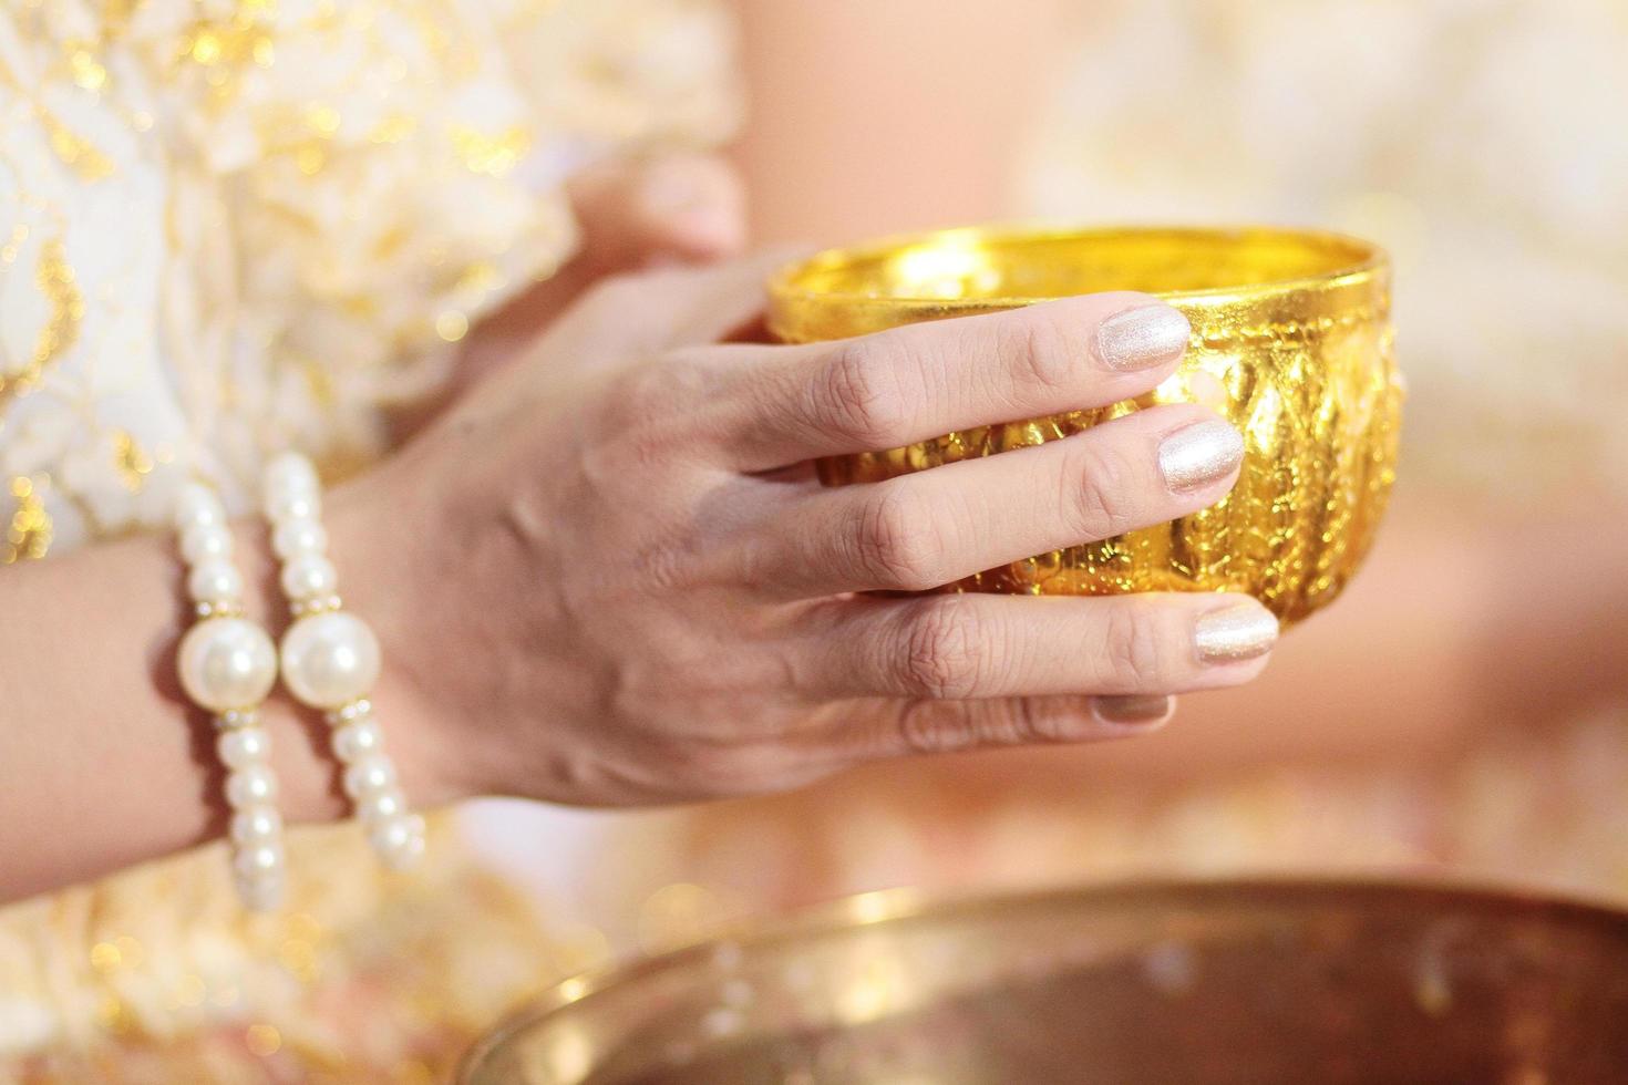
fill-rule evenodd
<path id="1" fill-rule="evenodd" d="M 1102 290 L 1203 294 L 1359 273 L 1368 242 L 1280 229 L 947 229 L 834 251 L 788 268 L 780 291 L 840 306 L 889 299 L 1024 304 Z"/>

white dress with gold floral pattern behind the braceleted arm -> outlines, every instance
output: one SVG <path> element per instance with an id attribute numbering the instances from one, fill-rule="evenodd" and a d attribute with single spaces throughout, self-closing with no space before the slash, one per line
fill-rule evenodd
<path id="1" fill-rule="evenodd" d="M 151 530 L 190 475 L 246 509 L 278 449 L 379 455 L 384 410 L 571 255 L 575 169 L 729 133 L 731 54 L 707 0 L 7 5 L 0 563 Z M 295 839 L 260 924 L 213 851 L 5 909 L 0 1082 L 428 1080 L 594 950 L 457 849 L 383 891 L 357 848 Z"/>

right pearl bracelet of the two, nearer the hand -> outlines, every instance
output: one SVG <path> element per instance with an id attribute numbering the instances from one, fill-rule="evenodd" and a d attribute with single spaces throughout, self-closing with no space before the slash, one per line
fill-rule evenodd
<path id="1" fill-rule="evenodd" d="M 295 699 L 326 714 L 334 755 L 345 763 L 345 794 L 373 851 L 392 869 L 409 867 L 423 854 L 423 818 L 407 810 L 396 765 L 384 753 L 368 701 L 379 677 L 379 643 L 361 618 L 342 608 L 311 460 L 285 452 L 267 464 L 264 498 L 272 548 L 283 563 L 280 582 L 295 617 L 282 643 L 283 683 Z"/>

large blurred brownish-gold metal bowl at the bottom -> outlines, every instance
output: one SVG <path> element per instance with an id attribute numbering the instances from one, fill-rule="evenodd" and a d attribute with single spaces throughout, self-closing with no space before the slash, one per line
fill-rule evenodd
<path id="1" fill-rule="evenodd" d="M 1384 882 L 873 893 L 571 979 L 464 1085 L 1628 1082 L 1628 914 Z"/>

